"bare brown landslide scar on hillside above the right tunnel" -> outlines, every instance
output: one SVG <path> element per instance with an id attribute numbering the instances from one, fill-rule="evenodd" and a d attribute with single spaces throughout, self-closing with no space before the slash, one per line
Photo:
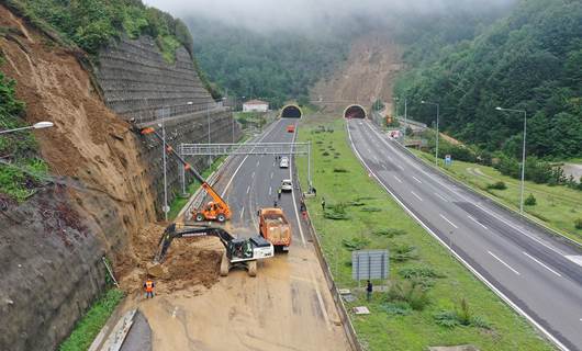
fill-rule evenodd
<path id="1" fill-rule="evenodd" d="M 347 63 L 332 77 L 315 84 L 311 99 L 326 110 L 343 110 L 350 103 L 371 106 L 376 99 L 392 100 L 395 73 L 402 68 L 402 50 L 385 33 L 370 33 L 351 43 Z"/>

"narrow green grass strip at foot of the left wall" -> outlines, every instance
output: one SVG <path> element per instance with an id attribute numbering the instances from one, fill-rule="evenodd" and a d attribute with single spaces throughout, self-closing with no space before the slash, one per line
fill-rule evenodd
<path id="1" fill-rule="evenodd" d="M 60 344 L 59 351 L 85 351 L 103 328 L 109 317 L 122 301 L 124 293 L 117 288 L 109 290 L 87 312 L 70 336 Z"/>

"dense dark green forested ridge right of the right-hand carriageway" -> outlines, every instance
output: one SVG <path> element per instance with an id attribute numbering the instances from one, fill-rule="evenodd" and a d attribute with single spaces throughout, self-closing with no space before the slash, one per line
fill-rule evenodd
<path id="1" fill-rule="evenodd" d="M 582 156 L 582 3 L 521 1 L 511 14 L 472 41 L 439 49 L 436 60 L 410 61 L 396 94 L 412 116 L 489 151 L 518 156 L 528 112 L 527 151 L 546 158 Z"/>

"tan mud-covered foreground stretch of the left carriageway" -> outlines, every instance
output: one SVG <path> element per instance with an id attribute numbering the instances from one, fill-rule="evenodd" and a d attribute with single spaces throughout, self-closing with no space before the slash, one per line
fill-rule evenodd
<path id="1" fill-rule="evenodd" d="M 154 350 L 346 350 L 317 270 L 313 253 L 295 248 L 265 261 L 256 279 L 232 271 L 209 290 L 138 306 L 154 331 Z"/>

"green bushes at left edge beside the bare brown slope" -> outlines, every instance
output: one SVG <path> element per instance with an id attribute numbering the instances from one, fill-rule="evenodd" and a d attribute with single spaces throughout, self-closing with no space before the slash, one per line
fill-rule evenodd
<path id="1" fill-rule="evenodd" d="M 3 64 L 0 54 L 0 66 Z M 16 82 L 0 71 L 0 128 L 12 129 L 26 126 L 23 116 L 25 105 L 15 97 Z M 37 145 L 31 131 L 0 135 L 0 201 L 2 194 L 24 201 L 41 184 L 48 171 L 40 158 Z M 0 206 L 1 207 L 1 206 Z"/>

